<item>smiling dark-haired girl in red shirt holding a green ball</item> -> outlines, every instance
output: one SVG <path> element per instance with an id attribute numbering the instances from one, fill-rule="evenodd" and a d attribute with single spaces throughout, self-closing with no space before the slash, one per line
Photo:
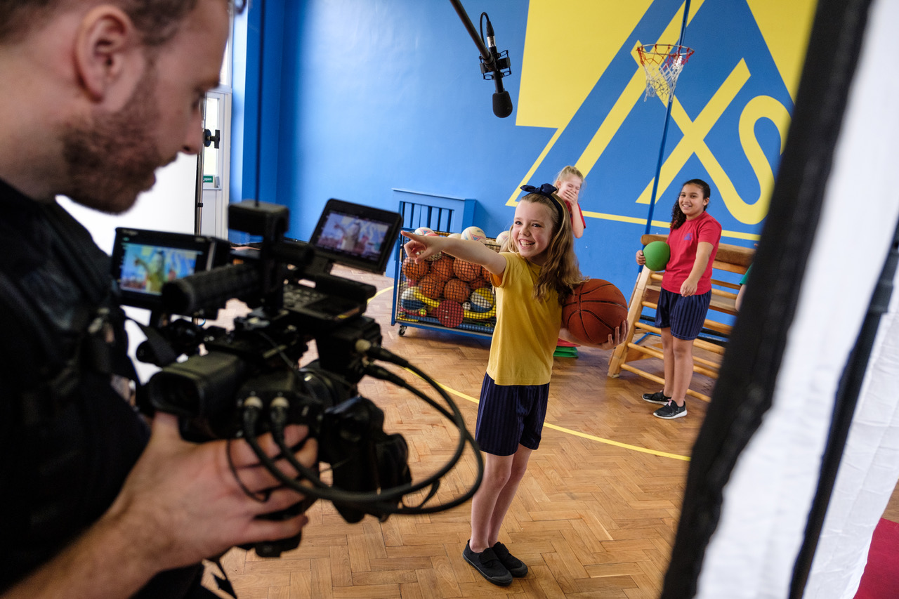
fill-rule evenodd
<path id="1" fill-rule="evenodd" d="M 670 420 L 687 416 L 687 389 L 693 378 L 693 340 L 706 321 L 712 299 L 712 263 L 721 240 L 721 225 L 706 211 L 711 190 L 702 179 L 690 179 L 672 208 L 668 245 L 671 257 L 662 277 L 655 326 L 661 329 L 664 389 L 643 398 L 661 404 L 653 416 Z M 636 264 L 646 264 L 643 250 Z"/>

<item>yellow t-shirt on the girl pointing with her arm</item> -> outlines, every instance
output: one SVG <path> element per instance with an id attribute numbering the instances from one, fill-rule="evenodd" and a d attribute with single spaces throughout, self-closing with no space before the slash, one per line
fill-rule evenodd
<path id="1" fill-rule="evenodd" d="M 493 276 L 496 326 L 487 374 L 497 385 L 545 385 L 553 371 L 562 307 L 556 291 L 534 299 L 540 267 L 512 252 L 503 252 L 503 280 Z"/>

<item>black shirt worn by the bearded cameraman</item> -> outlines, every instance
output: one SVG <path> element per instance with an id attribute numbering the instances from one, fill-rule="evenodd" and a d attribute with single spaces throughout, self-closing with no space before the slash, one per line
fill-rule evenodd
<path id="1" fill-rule="evenodd" d="M 109 360 L 85 349 L 109 273 L 109 256 L 58 204 L 0 180 L 0 592 L 106 511 L 149 438 L 96 366 Z M 127 362 L 124 328 L 112 322 L 116 341 L 99 354 Z M 185 596 L 199 574 L 165 573 L 138 596 Z"/>

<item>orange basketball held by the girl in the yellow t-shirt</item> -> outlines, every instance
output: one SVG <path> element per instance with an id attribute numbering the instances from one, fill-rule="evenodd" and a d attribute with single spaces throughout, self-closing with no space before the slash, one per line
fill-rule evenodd
<path id="1" fill-rule="evenodd" d="M 588 279 L 574 288 L 562 306 L 562 327 L 585 344 L 604 344 L 628 319 L 628 301 L 618 287 Z"/>

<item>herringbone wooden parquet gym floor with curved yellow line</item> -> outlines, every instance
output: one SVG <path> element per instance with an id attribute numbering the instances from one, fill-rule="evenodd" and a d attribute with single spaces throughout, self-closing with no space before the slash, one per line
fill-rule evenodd
<path id="1" fill-rule="evenodd" d="M 383 290 L 368 310 L 381 326 L 383 345 L 449 389 L 473 433 L 489 338 L 414 327 L 400 336 L 399 326 L 390 325 L 392 279 L 341 267 L 334 273 Z M 310 352 L 309 358 L 313 356 Z M 650 365 L 649 360 L 644 363 Z M 655 384 L 629 372 L 609 379 L 607 365 L 607 352 L 589 348 L 582 348 L 577 359 L 556 358 L 543 440 L 500 535 L 530 568 L 527 577 L 516 578 L 511 586 L 494 586 L 462 559 L 470 532 L 469 503 L 438 514 L 393 515 L 383 523 L 366 516 L 350 524 L 333 505 L 319 501 L 307 511 L 310 522 L 298 549 L 279 559 L 240 549 L 224 556 L 238 597 L 657 597 L 687 458 L 706 404 L 688 398 L 689 416 L 654 418 L 656 406 L 640 396 L 656 390 Z M 661 362 L 658 368 L 661 372 Z M 694 389 L 708 394 L 711 385 L 705 377 L 694 377 Z M 381 381 L 363 380 L 360 391 L 385 411 L 385 430 L 405 436 L 414 480 L 449 459 L 458 434 L 432 407 Z M 467 450 L 436 499 L 458 496 L 475 479 L 475 471 L 474 456 Z M 207 568 L 212 588 L 210 570 L 216 569 Z"/>

